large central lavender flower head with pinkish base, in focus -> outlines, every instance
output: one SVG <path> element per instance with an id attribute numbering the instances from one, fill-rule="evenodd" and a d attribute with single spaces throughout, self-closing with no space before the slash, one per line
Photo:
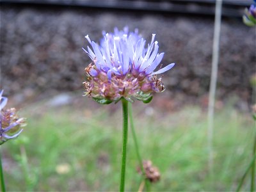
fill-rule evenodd
<path id="1" fill-rule="evenodd" d="M 128 28 L 124 31 L 115 29 L 115 33 L 103 35 L 100 45 L 85 36 L 93 49 L 89 46 L 84 49 L 92 60 L 85 68 L 85 95 L 102 104 L 109 104 L 122 98 L 131 102 L 132 98 L 149 102 L 152 92 L 163 92 L 164 86 L 157 74 L 170 70 L 174 63 L 154 72 L 164 56 L 163 52 L 158 53 L 155 34 L 147 48 L 138 30 L 129 33 Z"/>

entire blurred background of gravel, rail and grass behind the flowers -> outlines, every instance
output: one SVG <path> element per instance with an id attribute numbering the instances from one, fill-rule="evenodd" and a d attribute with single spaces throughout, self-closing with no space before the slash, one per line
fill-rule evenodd
<path id="1" fill-rule="evenodd" d="M 140 127 L 141 152 L 163 173 L 153 189 L 236 189 L 250 161 L 254 126 L 250 106 L 255 102 L 256 36 L 255 28 L 245 26 L 242 20 L 244 8 L 252 1 L 223 1 L 214 134 L 214 158 L 220 164 L 215 167 L 213 180 L 207 174 L 205 109 L 211 78 L 214 0 L 0 3 L 1 89 L 9 98 L 9 106 L 19 108 L 28 118 L 23 135 L 3 147 L 11 191 L 118 189 L 120 104 L 99 106 L 82 97 L 84 68 L 91 62 L 82 47 L 88 45 L 85 35 L 99 42 L 102 31 L 124 26 L 130 31 L 138 28 L 147 40 L 156 33 L 159 51 L 165 52 L 162 63 L 177 64 L 164 74 L 166 91 L 155 95 L 148 105 L 136 102 L 134 108 L 135 116 L 140 117 L 136 127 Z M 109 119 L 118 123 L 109 123 Z M 127 190 L 136 191 L 140 177 L 129 139 Z M 22 172 L 26 163 L 18 147 L 23 140 L 30 170 L 26 177 Z M 58 166 L 68 171 L 58 171 Z M 26 185 L 20 185 L 24 180 Z"/>

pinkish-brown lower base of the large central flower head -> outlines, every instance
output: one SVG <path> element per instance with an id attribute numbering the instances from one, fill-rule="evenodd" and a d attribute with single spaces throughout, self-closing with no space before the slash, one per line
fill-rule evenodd
<path id="1" fill-rule="evenodd" d="M 92 69 L 98 72 L 97 76 L 90 75 Z M 90 97 L 106 98 L 113 101 L 124 97 L 132 101 L 131 97 L 140 99 L 141 93 L 164 91 L 161 78 L 157 79 L 156 75 L 145 76 L 137 72 L 127 73 L 125 76 L 111 74 L 111 80 L 109 80 L 106 72 L 99 71 L 93 63 L 90 63 L 85 71 L 88 81 L 83 84 L 86 95 Z"/>

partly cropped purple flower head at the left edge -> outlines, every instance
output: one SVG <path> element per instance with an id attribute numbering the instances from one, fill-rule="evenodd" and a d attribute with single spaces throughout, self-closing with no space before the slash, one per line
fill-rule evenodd
<path id="1" fill-rule="evenodd" d="M 25 125 L 25 119 L 17 116 L 15 108 L 3 109 L 7 104 L 7 98 L 3 97 L 3 90 L 0 92 L 0 145 L 5 141 L 17 138 Z"/>

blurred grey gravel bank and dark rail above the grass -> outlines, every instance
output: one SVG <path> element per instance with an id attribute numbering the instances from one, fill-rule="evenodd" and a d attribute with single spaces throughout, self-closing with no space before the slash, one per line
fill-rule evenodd
<path id="1" fill-rule="evenodd" d="M 218 99 L 250 102 L 255 29 L 241 15 L 251 1 L 223 1 Z M 211 75 L 214 1 L 1 1 L 1 86 L 19 102 L 51 92 L 82 90 L 85 35 L 129 26 L 147 40 L 157 34 L 170 97 L 203 101 Z M 206 96 L 207 97 L 207 96 Z M 245 103 L 243 104 L 245 108 Z M 247 106 L 248 108 L 248 106 Z"/>

